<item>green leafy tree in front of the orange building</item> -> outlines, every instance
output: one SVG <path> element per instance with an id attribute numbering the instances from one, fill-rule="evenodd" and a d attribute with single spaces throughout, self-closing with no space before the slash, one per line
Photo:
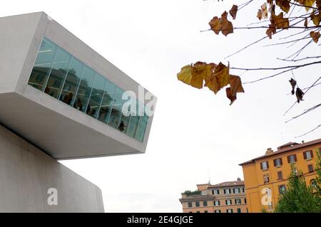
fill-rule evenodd
<path id="1" fill-rule="evenodd" d="M 319 159 L 320 162 L 320 159 Z M 320 173 L 319 173 L 320 174 Z M 320 175 L 319 175 L 320 176 Z M 320 185 L 318 185 L 320 187 Z M 319 193 L 314 193 L 312 186 L 307 186 L 301 171 L 296 172 L 292 166 L 288 178 L 287 190 L 281 194 L 276 213 L 317 213 L 321 212 L 321 199 Z"/>

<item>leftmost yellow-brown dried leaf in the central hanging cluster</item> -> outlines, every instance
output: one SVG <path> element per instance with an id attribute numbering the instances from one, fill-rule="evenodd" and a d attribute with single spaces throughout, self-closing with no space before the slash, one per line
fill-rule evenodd
<path id="1" fill-rule="evenodd" d="M 203 88 L 203 78 L 201 75 L 192 74 L 193 66 L 185 65 L 180 73 L 177 74 L 178 80 L 182 81 L 185 84 L 191 85 L 194 88 Z"/>

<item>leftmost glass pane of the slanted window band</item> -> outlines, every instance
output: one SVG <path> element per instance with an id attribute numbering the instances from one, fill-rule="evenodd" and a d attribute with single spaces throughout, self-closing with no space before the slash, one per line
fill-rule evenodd
<path id="1" fill-rule="evenodd" d="M 39 90 L 44 90 L 51 70 L 51 65 L 56 56 L 57 46 L 44 38 L 39 48 L 34 68 L 32 69 L 28 84 Z"/>

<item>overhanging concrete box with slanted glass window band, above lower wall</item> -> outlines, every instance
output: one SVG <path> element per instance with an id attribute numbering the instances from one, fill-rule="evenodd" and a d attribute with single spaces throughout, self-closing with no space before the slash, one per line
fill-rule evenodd
<path id="1" fill-rule="evenodd" d="M 145 152 L 153 116 L 121 111 L 138 83 L 43 12 L 0 31 L 2 125 L 56 159 Z"/>

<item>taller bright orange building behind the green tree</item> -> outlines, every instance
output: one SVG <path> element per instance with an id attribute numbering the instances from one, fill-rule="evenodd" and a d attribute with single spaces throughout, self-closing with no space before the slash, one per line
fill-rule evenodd
<path id="1" fill-rule="evenodd" d="M 267 149 L 265 155 L 243 162 L 248 211 L 272 211 L 278 196 L 286 190 L 291 164 L 302 171 L 307 184 L 312 184 L 317 176 L 317 154 L 321 152 L 321 139 L 297 144 L 289 142 L 273 152 Z M 270 198 L 270 199 L 269 199 Z"/>

